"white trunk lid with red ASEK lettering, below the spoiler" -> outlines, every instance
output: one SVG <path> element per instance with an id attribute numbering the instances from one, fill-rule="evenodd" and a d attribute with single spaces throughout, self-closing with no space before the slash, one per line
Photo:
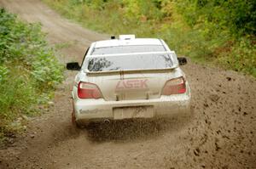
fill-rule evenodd
<path id="1" fill-rule="evenodd" d="M 106 100 L 156 99 L 160 97 L 166 80 L 171 79 L 169 72 L 132 73 L 103 76 L 89 76 Z"/>

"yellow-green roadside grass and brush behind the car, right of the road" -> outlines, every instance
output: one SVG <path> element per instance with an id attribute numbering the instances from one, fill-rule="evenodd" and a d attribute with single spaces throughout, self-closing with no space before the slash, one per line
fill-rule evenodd
<path id="1" fill-rule="evenodd" d="M 255 37 L 232 34 L 221 6 L 200 9 L 189 1 L 164 0 L 42 1 L 91 30 L 162 38 L 178 55 L 188 56 L 194 62 L 256 77 Z M 207 18 L 207 14 L 212 14 L 210 10 L 216 10 L 216 16 L 209 16 L 212 21 Z"/>

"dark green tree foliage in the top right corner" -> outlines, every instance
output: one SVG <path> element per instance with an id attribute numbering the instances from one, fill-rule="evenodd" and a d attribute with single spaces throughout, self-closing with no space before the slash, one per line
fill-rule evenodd
<path id="1" fill-rule="evenodd" d="M 177 7 L 190 26 L 207 21 L 214 29 L 229 30 L 235 36 L 256 34 L 256 1 L 177 0 Z"/>

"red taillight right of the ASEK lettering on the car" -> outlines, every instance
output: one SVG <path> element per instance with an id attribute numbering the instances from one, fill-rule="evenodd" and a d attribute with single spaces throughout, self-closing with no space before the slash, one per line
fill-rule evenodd
<path id="1" fill-rule="evenodd" d="M 166 82 L 162 95 L 181 94 L 186 92 L 186 84 L 183 77 L 178 77 Z"/>

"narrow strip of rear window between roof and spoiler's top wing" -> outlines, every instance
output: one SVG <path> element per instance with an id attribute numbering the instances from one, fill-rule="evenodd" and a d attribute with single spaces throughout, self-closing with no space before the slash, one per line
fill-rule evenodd
<path id="1" fill-rule="evenodd" d="M 130 45 L 130 46 L 115 46 L 94 48 L 91 55 L 98 54 L 131 54 L 143 52 L 164 52 L 166 48 L 162 45 Z"/>

